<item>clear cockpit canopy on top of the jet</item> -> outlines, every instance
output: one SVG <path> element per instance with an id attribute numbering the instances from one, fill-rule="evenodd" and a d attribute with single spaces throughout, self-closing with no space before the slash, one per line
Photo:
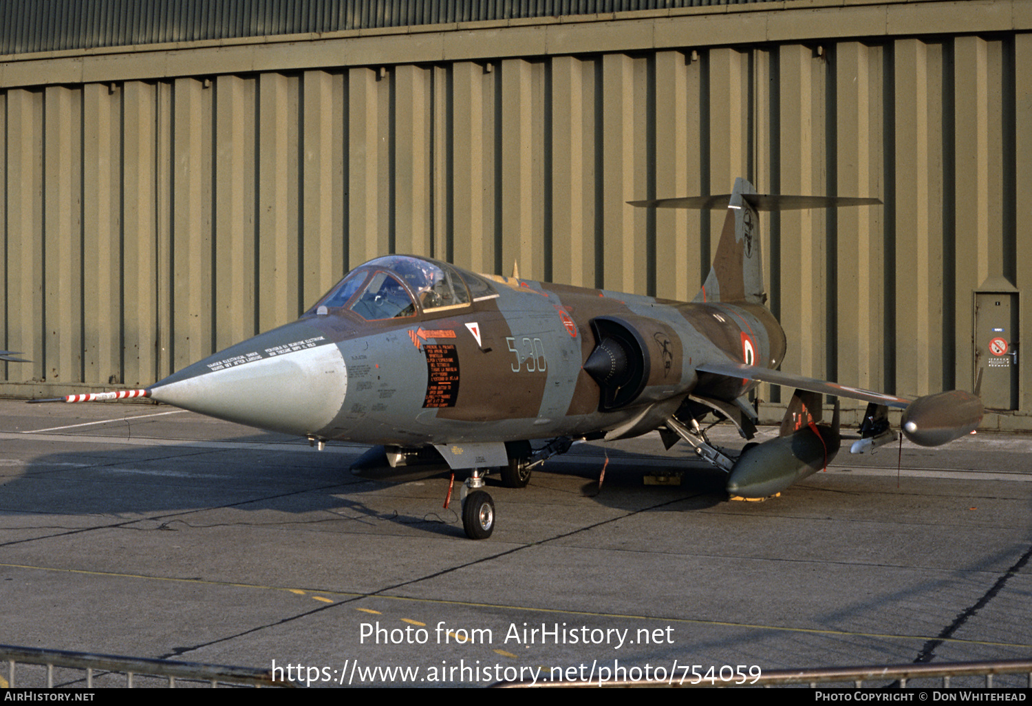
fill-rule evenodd
<path id="1" fill-rule="evenodd" d="M 466 307 L 495 295 L 487 280 L 447 262 L 387 255 L 348 272 L 308 314 L 346 309 L 366 321 L 382 321 Z"/>

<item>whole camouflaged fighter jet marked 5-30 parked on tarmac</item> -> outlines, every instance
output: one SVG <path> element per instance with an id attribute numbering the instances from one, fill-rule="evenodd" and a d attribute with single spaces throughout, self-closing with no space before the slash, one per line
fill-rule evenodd
<path id="1" fill-rule="evenodd" d="M 526 485 L 546 458 L 583 440 L 658 430 L 727 474 L 727 490 L 767 498 L 826 468 L 841 444 L 838 403 L 868 403 L 863 451 L 903 434 L 937 446 L 974 429 L 977 395 L 954 390 L 914 402 L 778 367 L 785 335 L 766 307 L 757 212 L 865 206 L 870 198 L 731 194 L 645 207 L 725 208 L 709 277 L 691 302 L 477 275 L 446 262 L 388 255 L 362 264 L 297 321 L 196 362 L 142 390 L 69 395 L 85 402 L 147 396 L 250 426 L 384 447 L 392 467 L 429 458 L 469 473 L 462 524 L 494 528 L 484 476 Z M 795 389 L 780 436 L 734 453 L 712 445 L 709 415 L 750 440 L 761 382 Z M 381 451 L 384 453 L 384 451 Z"/>

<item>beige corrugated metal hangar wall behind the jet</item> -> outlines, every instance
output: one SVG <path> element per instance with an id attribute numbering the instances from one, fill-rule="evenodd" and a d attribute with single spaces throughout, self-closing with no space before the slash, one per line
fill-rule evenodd
<path id="1" fill-rule="evenodd" d="M 33 361 L 0 393 L 144 386 L 388 252 L 690 298 L 722 216 L 625 201 L 745 175 L 884 201 L 764 215 L 784 370 L 917 395 L 1002 361 L 987 424 L 1030 428 L 1030 31 L 794 0 L 0 57 L 0 347 Z"/>

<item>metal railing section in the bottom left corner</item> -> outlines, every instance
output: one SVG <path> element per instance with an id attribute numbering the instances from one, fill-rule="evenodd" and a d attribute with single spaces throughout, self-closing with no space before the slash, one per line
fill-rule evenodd
<path id="1" fill-rule="evenodd" d="M 35 647 L 17 647 L 0 645 L 0 662 L 7 662 L 8 688 L 17 686 L 39 687 L 34 679 L 23 679 L 30 683 L 15 683 L 15 665 L 42 666 L 46 670 L 46 687 L 54 688 L 55 668 L 62 671 L 61 685 L 82 687 L 83 672 L 85 672 L 86 688 L 94 688 L 94 679 L 105 677 L 103 686 L 116 686 L 106 677 L 114 674 L 124 674 L 124 685 L 133 686 L 133 680 L 144 677 L 147 685 L 154 685 L 155 677 L 167 680 L 169 687 L 175 686 L 175 680 L 191 682 L 206 682 L 214 688 L 220 684 L 241 686 L 293 686 L 289 681 L 272 680 L 271 670 L 253 669 L 250 667 L 229 667 L 226 665 L 207 665 L 194 662 L 172 662 L 169 660 L 151 660 L 147 657 L 130 657 L 117 654 L 93 654 L 90 652 L 68 652 L 60 649 L 39 649 Z M 75 670 L 65 675 L 65 670 Z M 23 670 L 24 672 L 24 670 Z M 121 679 L 119 679 L 121 681 Z M 137 684 L 139 685 L 139 684 Z"/>

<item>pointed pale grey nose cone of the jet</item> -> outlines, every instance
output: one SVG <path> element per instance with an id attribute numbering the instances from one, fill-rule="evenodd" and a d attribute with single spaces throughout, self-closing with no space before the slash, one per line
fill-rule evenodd
<path id="1" fill-rule="evenodd" d="M 303 321 L 231 346 L 150 388 L 158 402 L 297 436 L 329 426 L 347 389 L 340 349 Z"/>

